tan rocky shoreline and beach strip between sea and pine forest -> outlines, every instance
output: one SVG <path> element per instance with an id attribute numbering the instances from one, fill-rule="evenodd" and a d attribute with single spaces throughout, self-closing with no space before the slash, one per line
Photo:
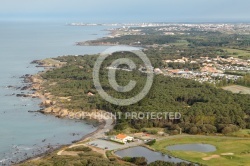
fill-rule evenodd
<path id="1" fill-rule="evenodd" d="M 51 59 L 50 59 L 51 60 Z M 53 60 L 53 62 L 55 64 L 50 64 L 48 62 L 44 62 L 43 60 L 40 61 L 40 60 L 34 60 L 32 61 L 31 63 L 32 64 L 38 64 L 36 67 L 42 67 L 44 69 L 48 69 L 50 70 L 51 68 L 57 68 L 57 67 L 61 67 L 63 66 L 65 63 L 61 63 L 59 61 L 56 61 L 56 60 Z M 65 108 L 62 108 L 60 106 L 57 105 L 57 101 L 55 100 L 55 96 L 53 96 L 52 94 L 50 93 L 43 93 L 42 91 L 44 90 L 44 87 L 43 87 L 43 83 L 45 82 L 45 80 L 42 79 L 41 75 L 38 73 L 36 75 L 24 75 L 21 77 L 23 79 L 23 82 L 26 83 L 27 85 L 24 86 L 24 87 L 18 87 L 18 89 L 23 89 L 23 90 L 30 90 L 32 91 L 32 93 L 28 93 L 28 94 L 25 94 L 25 93 L 21 93 L 21 94 L 16 94 L 17 97 L 32 97 L 32 98 L 39 98 L 42 102 L 40 104 L 40 107 L 41 109 L 40 110 L 37 110 L 37 111 L 29 111 L 30 113 L 33 113 L 33 112 L 40 112 L 42 114 L 50 114 L 50 115 L 53 115 L 53 116 L 56 116 L 58 118 L 69 118 L 69 115 L 74 113 L 74 112 L 71 112 Z M 16 87 L 12 87 L 12 86 L 9 86 L 9 88 L 16 88 Z M 105 111 L 102 111 L 102 110 L 94 110 L 95 112 L 99 112 L 99 113 L 103 113 Z M 84 112 L 83 112 L 84 113 Z M 110 119 L 112 119 L 113 117 L 110 117 Z M 70 118 L 72 119 L 72 118 Z M 72 119 L 73 120 L 73 119 Z M 79 120 L 79 119 L 77 119 Z M 81 120 L 81 119 L 80 119 Z M 98 125 L 97 125 L 97 129 L 85 136 L 83 136 L 80 140 L 75 140 L 75 141 L 72 141 L 72 144 L 74 143 L 78 143 L 78 142 L 82 142 L 82 141 L 86 141 L 88 139 L 91 139 L 92 136 L 94 135 L 98 135 L 99 132 L 101 132 L 102 130 L 105 129 L 106 127 L 106 122 L 108 120 L 106 119 L 102 119 L 102 117 L 99 117 L 99 116 L 95 116 L 95 114 L 93 114 L 93 116 L 88 116 L 88 117 L 85 117 L 84 120 L 92 120 L 92 122 L 97 122 Z M 113 125 L 113 124 L 112 124 Z M 109 126 L 110 127 L 110 126 Z M 70 145 L 72 145 L 70 144 Z M 63 147 L 67 147 L 67 146 L 70 146 L 70 145 L 61 145 L 57 148 L 50 148 L 49 150 L 39 154 L 39 155 L 35 155 L 31 158 L 28 158 L 28 159 L 25 159 L 19 163 L 17 163 L 17 165 L 19 164 L 22 164 L 22 163 L 25 163 L 25 162 L 28 162 L 30 160 L 34 160 L 34 159 L 37 159 L 37 158 L 40 158 L 40 157 L 44 157 L 54 151 L 57 151 L 57 150 L 60 150 L 61 148 Z"/>

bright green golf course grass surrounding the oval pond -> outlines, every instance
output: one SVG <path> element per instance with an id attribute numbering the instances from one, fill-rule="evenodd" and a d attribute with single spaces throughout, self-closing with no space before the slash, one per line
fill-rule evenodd
<path id="1" fill-rule="evenodd" d="M 217 151 L 210 153 L 191 151 L 168 151 L 166 146 L 186 143 L 206 143 L 216 146 Z M 152 148 L 195 163 L 211 166 L 248 166 L 250 165 L 250 139 L 211 137 L 211 136 L 181 136 L 170 137 L 156 142 Z M 225 154 L 223 154 L 225 153 Z M 207 159 L 216 156 L 217 158 Z"/>

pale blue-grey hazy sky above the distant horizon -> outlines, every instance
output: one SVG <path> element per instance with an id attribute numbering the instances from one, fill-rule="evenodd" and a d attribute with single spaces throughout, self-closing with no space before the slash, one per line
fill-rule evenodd
<path id="1" fill-rule="evenodd" d="M 0 19 L 250 21 L 250 0 L 1 0 Z"/>

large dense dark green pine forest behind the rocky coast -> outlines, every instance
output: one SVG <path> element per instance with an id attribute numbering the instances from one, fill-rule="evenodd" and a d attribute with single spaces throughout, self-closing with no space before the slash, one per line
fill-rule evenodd
<path id="1" fill-rule="evenodd" d="M 142 65 L 140 60 L 129 53 L 118 54 L 105 61 L 101 67 L 100 80 L 103 89 L 111 96 L 129 98 L 141 91 L 144 87 L 146 74 L 138 70 L 117 70 L 116 80 L 126 85 L 129 80 L 137 82 L 136 87 L 126 93 L 118 93 L 109 85 L 107 79 L 108 69 L 114 59 L 119 56 L 130 58 Z M 150 57 L 150 56 L 149 56 Z M 60 103 L 70 110 L 91 111 L 102 109 L 108 112 L 180 112 L 180 120 L 169 119 L 120 119 L 115 126 L 116 130 L 132 127 L 137 130 L 150 127 L 162 127 L 167 132 L 199 133 L 229 133 L 240 128 L 250 128 L 250 95 L 233 94 L 216 88 L 210 84 L 201 84 L 183 78 L 171 78 L 155 75 L 153 86 L 147 96 L 140 102 L 130 106 L 117 106 L 110 104 L 100 97 L 93 84 L 93 67 L 97 55 L 91 56 L 63 56 L 56 58 L 67 64 L 42 74 L 47 80 L 45 89 L 55 96 L 70 97 L 71 101 Z M 157 63 L 157 61 L 153 61 Z M 51 83 L 57 82 L 51 86 Z M 88 92 L 93 96 L 88 96 Z"/>

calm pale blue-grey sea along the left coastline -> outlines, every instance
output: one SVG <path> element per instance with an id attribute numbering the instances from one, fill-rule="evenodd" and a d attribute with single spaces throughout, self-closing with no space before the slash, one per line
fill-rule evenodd
<path id="1" fill-rule="evenodd" d="M 85 121 L 58 119 L 28 111 L 39 110 L 39 99 L 18 98 L 21 76 L 42 70 L 36 59 L 84 55 L 107 47 L 75 46 L 75 42 L 105 36 L 109 27 L 73 27 L 64 22 L 0 22 L 0 165 L 10 165 L 69 144 L 94 131 Z M 76 133 L 76 134 L 73 134 Z"/>

